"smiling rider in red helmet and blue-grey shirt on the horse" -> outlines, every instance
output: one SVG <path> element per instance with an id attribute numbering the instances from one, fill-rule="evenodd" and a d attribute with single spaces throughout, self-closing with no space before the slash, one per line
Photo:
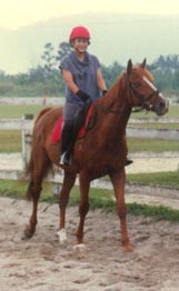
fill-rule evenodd
<path id="1" fill-rule="evenodd" d="M 69 42 L 73 50 L 59 66 L 66 84 L 63 128 L 60 164 L 70 165 L 70 155 L 89 106 L 107 92 L 97 57 L 87 52 L 90 32 L 84 27 L 74 27 Z M 131 163 L 127 160 L 126 164 Z"/>

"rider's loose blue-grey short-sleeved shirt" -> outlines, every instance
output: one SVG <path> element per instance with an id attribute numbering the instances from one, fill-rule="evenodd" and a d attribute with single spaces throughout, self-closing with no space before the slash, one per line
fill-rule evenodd
<path id="1" fill-rule="evenodd" d="M 97 71 L 100 68 L 98 59 L 86 52 L 84 61 L 80 61 L 74 51 L 64 57 L 59 66 L 61 70 L 70 71 L 77 87 L 90 96 L 91 101 L 100 97 L 97 82 Z M 83 106 L 83 101 L 66 84 L 66 101 Z"/>

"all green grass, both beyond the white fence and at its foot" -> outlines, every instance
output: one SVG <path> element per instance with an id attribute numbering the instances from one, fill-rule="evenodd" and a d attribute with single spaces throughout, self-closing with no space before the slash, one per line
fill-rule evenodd
<path id="1" fill-rule="evenodd" d="M 42 106 L 0 106 L 1 118 L 21 118 L 26 113 L 37 116 Z M 170 111 L 166 117 L 178 117 L 179 106 L 170 106 Z M 143 113 L 132 113 L 132 118 L 141 118 Z M 148 117 L 153 117 L 149 113 Z M 139 124 L 138 124 L 139 126 Z M 147 124 L 150 127 L 150 124 Z M 152 127 L 161 128 L 161 124 L 155 123 Z M 173 128 L 169 124 L 162 124 L 162 128 Z M 177 128 L 178 124 L 175 124 Z M 128 138 L 128 147 L 130 152 L 135 151 L 178 151 L 177 141 L 143 140 Z M 21 132 L 20 131 L 1 131 L 0 133 L 0 152 L 19 152 L 21 151 Z M 147 174 L 128 174 L 127 180 L 133 182 L 143 182 L 151 184 L 161 184 L 179 188 L 179 173 L 147 173 Z M 167 183 L 167 184 L 166 184 Z M 4 181 L 0 180 L 0 195 L 22 199 L 26 192 L 27 182 Z M 111 199 L 112 191 L 91 189 L 90 190 L 90 209 L 101 208 L 106 211 L 116 211 L 116 202 Z M 43 190 L 40 201 L 57 203 L 57 197 L 51 195 L 51 184 L 43 183 Z M 79 189 L 74 187 L 70 195 L 70 205 L 79 204 Z M 153 217 L 155 219 L 167 219 L 170 221 L 179 221 L 179 211 L 171 210 L 166 207 L 148 207 L 137 203 L 127 205 L 128 212 L 131 214 L 142 214 L 145 217 Z"/>

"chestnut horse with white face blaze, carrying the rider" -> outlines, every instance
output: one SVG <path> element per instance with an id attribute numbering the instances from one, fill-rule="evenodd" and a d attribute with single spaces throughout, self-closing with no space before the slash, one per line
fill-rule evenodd
<path id="1" fill-rule="evenodd" d="M 125 163 L 127 158 L 126 127 L 133 107 L 162 116 L 168 111 L 168 101 L 153 86 L 152 76 L 146 69 L 146 59 L 140 66 L 128 61 L 127 71 L 90 108 L 91 126 L 83 138 L 78 138 L 70 167 L 62 165 L 64 178 L 59 194 L 59 240 L 64 242 L 66 207 L 69 193 L 79 173 L 80 181 L 80 221 L 77 230 L 78 245 L 83 245 L 83 225 L 89 210 L 90 182 L 102 175 L 109 175 L 113 185 L 117 211 L 121 223 L 121 242 L 125 251 L 131 251 L 127 231 L 127 210 L 125 203 Z M 33 128 L 33 142 L 29 163 L 30 181 L 27 197 L 32 198 L 33 208 L 24 238 L 31 238 L 36 231 L 37 207 L 41 183 L 52 163 L 59 165 L 60 147 L 50 140 L 52 129 L 62 108 L 47 108 L 38 116 Z"/>

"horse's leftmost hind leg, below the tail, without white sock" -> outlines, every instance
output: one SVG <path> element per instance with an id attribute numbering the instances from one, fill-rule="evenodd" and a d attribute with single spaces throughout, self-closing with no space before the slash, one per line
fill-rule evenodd
<path id="1" fill-rule="evenodd" d="M 38 154 L 38 151 L 36 151 L 34 155 L 32 157 L 32 161 L 33 161 L 33 167 L 31 169 L 31 179 L 26 194 L 27 198 L 32 199 L 32 213 L 29 220 L 29 224 L 24 230 L 23 239 L 31 238 L 36 232 L 36 225 L 38 222 L 37 220 L 38 201 L 42 189 L 41 184 L 42 184 L 43 177 L 46 175 L 47 170 L 49 169 L 50 165 L 50 160 L 47 153 L 42 149 L 41 149 L 41 154 Z"/>

